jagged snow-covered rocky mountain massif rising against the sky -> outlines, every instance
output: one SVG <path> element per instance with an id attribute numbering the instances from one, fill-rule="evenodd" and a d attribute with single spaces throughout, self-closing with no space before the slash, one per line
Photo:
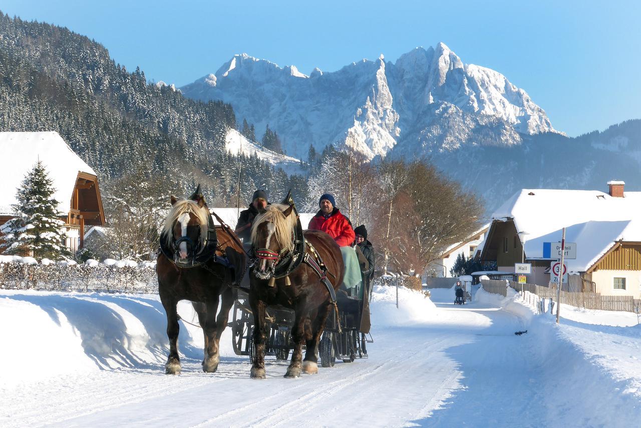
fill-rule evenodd
<path id="1" fill-rule="evenodd" d="M 231 103 L 257 135 L 269 124 L 297 158 L 306 158 L 310 144 L 317 151 L 349 145 L 370 159 L 514 145 L 521 134 L 556 132 L 524 90 L 495 70 L 466 65 L 443 42 L 416 47 L 395 63 L 381 54 L 310 76 L 239 54 L 181 90 Z"/>

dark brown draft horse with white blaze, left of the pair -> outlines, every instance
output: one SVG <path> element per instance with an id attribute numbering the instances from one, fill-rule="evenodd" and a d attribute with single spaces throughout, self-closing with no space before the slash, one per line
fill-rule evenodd
<path id="1" fill-rule="evenodd" d="M 206 246 L 209 211 L 201 197 L 198 201 L 177 201 L 171 197 L 172 209 L 165 219 L 161 239 L 174 247 L 178 253 L 174 263 L 164 254 L 158 256 L 156 274 L 158 274 L 158 292 L 167 314 L 167 336 L 169 337 L 169 358 L 165 364 L 165 373 L 179 374 L 180 358 L 178 356 L 178 312 L 179 300 L 191 300 L 198 314 L 198 321 L 203 327 L 204 359 L 203 372 L 215 372 L 219 363 L 219 342 L 227 326 L 229 309 L 233 305 L 231 281 L 233 270 L 210 259 L 203 265 L 187 267 L 188 260 L 194 257 L 198 248 Z M 218 238 L 217 251 L 223 255 L 226 247 L 238 252 L 244 265 L 244 251 L 238 241 L 231 236 L 231 231 L 216 227 Z M 188 245 L 199 243 L 199 245 Z M 222 254 L 221 254 L 222 253 Z M 182 265 L 182 266 L 181 266 Z M 219 300 L 221 310 L 216 317 Z"/>

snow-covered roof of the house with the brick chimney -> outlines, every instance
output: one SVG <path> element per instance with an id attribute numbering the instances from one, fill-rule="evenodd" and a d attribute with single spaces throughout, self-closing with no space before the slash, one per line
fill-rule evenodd
<path id="1" fill-rule="evenodd" d="M 542 259 L 544 242 L 576 243 L 570 272 L 585 272 L 615 242 L 641 242 L 641 192 L 612 197 L 597 190 L 523 189 L 492 214 L 492 220 L 513 219 L 528 259 Z"/>

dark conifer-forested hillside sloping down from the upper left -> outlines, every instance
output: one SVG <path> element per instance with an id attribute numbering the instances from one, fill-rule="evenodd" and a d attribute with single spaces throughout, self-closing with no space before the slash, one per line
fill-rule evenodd
<path id="1" fill-rule="evenodd" d="M 230 156 L 224 140 L 236 127 L 229 104 L 151 85 L 85 36 L 0 13 L 0 131 L 58 131 L 107 189 L 149 182 L 160 196 L 203 183 L 213 204 L 227 204 L 242 163 L 242 199 L 255 186 L 303 190 L 301 177 L 292 182 L 258 158 Z"/>

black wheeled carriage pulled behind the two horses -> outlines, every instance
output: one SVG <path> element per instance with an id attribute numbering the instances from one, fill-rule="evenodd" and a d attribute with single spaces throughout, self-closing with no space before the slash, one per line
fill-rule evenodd
<path id="1" fill-rule="evenodd" d="M 369 293 L 364 290 L 362 283 L 349 291 L 339 289 L 337 307 L 340 329 L 335 309 L 332 309 L 320 339 L 320 365 L 323 367 L 333 366 L 337 359 L 351 363 L 356 358 L 367 358 L 366 344 L 374 342 L 369 334 Z M 293 348 L 290 331 L 294 324 L 294 311 L 269 306 L 266 314 L 269 339 L 265 355 L 287 360 Z M 254 354 L 254 316 L 249 307 L 247 292 L 242 289 L 235 291 L 229 327 L 236 355 L 246 355 L 251 359 Z"/>

